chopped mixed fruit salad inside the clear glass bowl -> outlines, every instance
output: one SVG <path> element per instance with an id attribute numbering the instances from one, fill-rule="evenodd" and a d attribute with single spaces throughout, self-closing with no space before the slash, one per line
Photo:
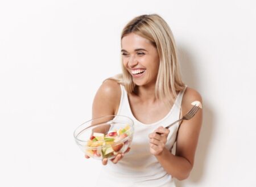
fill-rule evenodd
<path id="1" fill-rule="evenodd" d="M 110 130 L 107 134 L 93 133 L 88 140 L 85 154 L 93 158 L 114 158 L 118 153 L 125 152 L 131 141 L 130 126 Z"/>

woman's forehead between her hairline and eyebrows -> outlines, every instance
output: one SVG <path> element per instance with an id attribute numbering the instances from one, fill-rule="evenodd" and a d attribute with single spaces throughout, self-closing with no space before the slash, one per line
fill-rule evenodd
<path id="1" fill-rule="evenodd" d="M 124 36 L 121 45 L 123 49 L 151 48 L 153 46 L 149 40 L 135 33 L 130 33 Z"/>

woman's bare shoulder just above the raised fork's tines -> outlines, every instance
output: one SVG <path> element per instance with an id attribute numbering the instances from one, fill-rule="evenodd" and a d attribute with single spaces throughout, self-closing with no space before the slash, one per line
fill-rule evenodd
<path id="1" fill-rule="evenodd" d="M 199 92 L 197 92 L 193 88 L 187 87 L 184 92 L 183 100 L 181 104 L 181 107 L 184 112 L 188 111 L 191 108 L 191 103 L 193 101 L 200 101 L 203 104 L 203 99 L 199 94 Z"/>

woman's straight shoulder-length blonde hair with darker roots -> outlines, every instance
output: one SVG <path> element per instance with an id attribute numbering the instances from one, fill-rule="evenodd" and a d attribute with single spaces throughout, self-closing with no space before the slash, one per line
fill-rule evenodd
<path id="1" fill-rule="evenodd" d="M 137 16 L 123 28 L 121 40 L 129 33 L 135 33 L 149 40 L 155 46 L 159 55 L 159 70 L 155 85 L 156 99 L 170 99 L 174 101 L 176 91 L 184 89 L 185 84 L 181 80 L 179 63 L 177 62 L 177 49 L 174 36 L 168 24 L 157 14 Z M 122 65 L 123 74 L 114 76 L 125 86 L 128 93 L 134 91 L 135 84 L 129 71 Z"/>

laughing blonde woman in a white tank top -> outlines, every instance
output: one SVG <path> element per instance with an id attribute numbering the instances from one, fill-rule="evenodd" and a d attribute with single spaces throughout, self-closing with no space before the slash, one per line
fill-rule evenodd
<path id="1" fill-rule="evenodd" d="M 187 179 L 202 124 L 202 111 L 170 129 L 201 101 L 181 80 L 174 37 L 156 14 L 131 20 L 121 35 L 122 75 L 102 83 L 93 101 L 93 118 L 124 115 L 134 120 L 129 152 L 104 166 L 99 186 L 175 186 Z M 171 150 L 176 142 L 175 155 Z M 85 156 L 88 158 L 88 156 Z"/>

